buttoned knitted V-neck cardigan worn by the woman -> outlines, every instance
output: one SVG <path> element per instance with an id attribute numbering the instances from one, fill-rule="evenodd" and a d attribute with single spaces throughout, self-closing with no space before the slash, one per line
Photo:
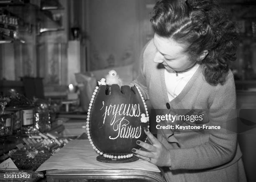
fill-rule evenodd
<path id="1" fill-rule="evenodd" d="M 164 81 L 164 67 L 153 61 L 156 51 L 153 40 L 149 41 L 140 56 L 141 68 L 138 77 L 131 84 L 140 88 L 143 97 L 150 100 L 154 109 L 165 109 L 166 112 L 172 109 L 208 109 L 209 119 L 203 124 L 221 127 L 221 129 L 197 132 L 166 132 L 166 129 L 159 129 L 158 139 L 171 153 L 171 166 L 168 166 L 168 172 L 166 172 L 167 179 L 174 179 L 179 171 L 179 175 L 182 177 L 175 179 L 186 181 L 186 177 L 184 177 L 186 174 L 218 171 L 238 162 L 242 154 L 237 142 L 237 135 L 230 134 L 225 130 L 228 122 L 231 125 L 236 125 L 236 122 L 230 120 L 230 111 L 236 109 L 236 89 L 232 72 L 228 72 L 223 85 L 213 86 L 205 80 L 202 73 L 203 66 L 200 65 L 182 92 L 175 99 L 169 101 Z M 168 109 L 167 105 L 169 105 Z M 236 118 L 236 116 L 231 116 L 231 118 Z M 151 121 L 152 119 L 154 121 L 154 118 L 151 118 Z M 181 123 L 176 122 L 175 124 Z M 194 124 L 195 126 L 202 125 L 202 123 Z M 244 181 L 246 179 L 242 162 L 239 165 L 241 168 L 239 173 L 242 173 L 241 181 Z M 231 167 L 228 172 L 238 174 L 238 169 L 235 168 L 237 167 Z M 180 172 L 181 170 L 182 172 Z M 192 170 L 198 171 L 191 172 Z M 221 172 L 216 172 L 216 177 L 218 175 L 221 175 Z M 187 180 L 193 181 L 193 177 L 190 178 Z M 209 180 L 207 175 L 205 178 L 207 180 L 199 179 L 200 181 Z M 195 178 L 195 180 L 199 179 Z M 225 177 L 219 179 L 225 180 Z M 216 181 L 216 178 L 212 180 Z"/>

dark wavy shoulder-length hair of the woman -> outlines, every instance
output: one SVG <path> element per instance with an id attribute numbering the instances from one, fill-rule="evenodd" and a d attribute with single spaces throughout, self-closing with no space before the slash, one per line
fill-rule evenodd
<path id="1" fill-rule="evenodd" d="M 191 60 L 202 60 L 208 83 L 225 83 L 229 62 L 236 60 L 238 29 L 216 0 L 161 0 L 154 6 L 152 27 L 156 34 L 187 45 Z"/>

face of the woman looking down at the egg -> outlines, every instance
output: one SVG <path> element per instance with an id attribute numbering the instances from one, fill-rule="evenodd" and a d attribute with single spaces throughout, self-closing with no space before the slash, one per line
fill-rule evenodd
<path id="1" fill-rule="evenodd" d="M 162 63 L 167 71 L 183 71 L 196 62 L 189 60 L 185 53 L 186 45 L 177 43 L 172 38 L 161 37 L 155 33 L 154 44 L 157 49 L 154 62 Z"/>

